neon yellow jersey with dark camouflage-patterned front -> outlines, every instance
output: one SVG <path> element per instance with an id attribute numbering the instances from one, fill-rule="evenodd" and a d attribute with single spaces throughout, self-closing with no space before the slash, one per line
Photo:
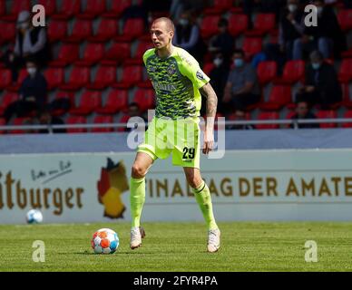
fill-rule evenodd
<path id="1" fill-rule="evenodd" d="M 171 55 L 162 59 L 152 48 L 143 54 L 143 62 L 156 92 L 157 118 L 176 120 L 200 115 L 199 89 L 210 78 L 190 53 L 174 47 Z"/>

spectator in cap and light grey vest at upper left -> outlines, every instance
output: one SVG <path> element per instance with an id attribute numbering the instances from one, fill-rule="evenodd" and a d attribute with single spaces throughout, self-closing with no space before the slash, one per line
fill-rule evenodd
<path id="1" fill-rule="evenodd" d="M 6 66 L 11 69 L 14 82 L 17 80 L 18 70 L 24 67 L 27 59 L 43 66 L 50 59 L 50 50 L 45 28 L 34 27 L 31 14 L 22 11 L 17 18 L 15 50 L 13 53 L 7 53 L 5 57 Z"/>

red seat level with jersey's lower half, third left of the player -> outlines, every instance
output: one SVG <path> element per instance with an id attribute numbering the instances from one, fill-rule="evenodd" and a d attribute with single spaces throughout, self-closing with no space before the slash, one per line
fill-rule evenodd
<path id="1" fill-rule="evenodd" d="M 70 110 L 72 115 L 86 116 L 102 106 L 102 94 L 98 91 L 84 91 L 79 105 Z"/>

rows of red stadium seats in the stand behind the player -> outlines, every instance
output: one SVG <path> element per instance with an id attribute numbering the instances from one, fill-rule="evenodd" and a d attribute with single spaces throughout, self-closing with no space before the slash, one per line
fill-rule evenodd
<path id="1" fill-rule="evenodd" d="M 142 14 L 131 13 L 138 7 L 136 0 L 21 0 L 0 1 L 0 116 L 5 108 L 18 100 L 18 89 L 26 71 L 22 69 L 16 82 L 12 82 L 11 71 L 6 67 L 5 55 L 14 49 L 17 15 L 31 10 L 35 4 L 44 5 L 47 35 L 53 59 L 44 67 L 48 82 L 49 103 L 66 98 L 71 108 L 53 106 L 52 114 L 61 116 L 65 123 L 126 122 L 128 104 L 137 102 L 141 111 L 155 106 L 152 83 L 147 80 L 143 68 L 142 54 L 152 47 L 146 20 L 169 11 L 151 12 L 149 19 Z M 278 61 L 277 55 L 266 53 L 268 44 L 277 44 L 279 37 L 278 15 L 259 10 L 244 14 L 240 0 L 213 0 L 200 14 L 196 23 L 200 35 L 207 43 L 218 33 L 221 17 L 229 20 L 229 31 L 236 39 L 236 47 L 245 52 L 246 61 L 259 57 L 257 73 L 262 92 L 262 101 L 246 111 L 249 120 L 285 120 L 295 107 L 294 95 L 304 82 L 308 62 L 304 60 Z M 343 91 L 343 102 L 322 110 L 313 108 L 318 118 L 351 118 L 352 101 L 352 9 L 343 1 L 332 5 L 338 24 L 347 40 L 340 53 L 329 58 L 338 73 Z M 128 11 L 128 13 L 126 13 Z M 136 10 L 137 11 L 137 10 Z M 177 22 L 177 20 L 175 20 Z M 249 28 L 251 27 L 251 28 Z M 278 44 L 279 45 L 279 44 Z M 261 56 L 265 54 L 261 58 Z M 214 55 L 204 57 L 203 71 L 210 73 L 214 67 Z M 230 65 L 229 65 L 230 66 Z M 230 67 L 231 69 L 231 67 Z M 221 96 L 219 96 L 221 99 Z M 77 105 L 76 105 L 77 104 Z M 331 110 L 334 108 L 334 110 Z M 232 116 L 232 117 L 231 117 Z M 233 112 L 226 116 L 234 121 Z M 11 124 L 23 124 L 28 119 L 15 119 Z M 0 121 L 4 125 L 4 121 Z M 351 127 L 350 123 L 321 123 L 321 128 Z M 256 129 L 285 128 L 278 124 L 261 124 Z M 85 129 L 69 129 L 68 132 L 86 132 Z M 88 130 L 89 131 L 89 130 Z M 94 129 L 91 131 L 104 131 Z M 106 129 L 105 131 L 114 131 Z M 123 131 L 119 129 L 117 131 Z M 24 133 L 8 131 L 7 133 Z M 5 131 L 1 131 L 2 134 Z"/>

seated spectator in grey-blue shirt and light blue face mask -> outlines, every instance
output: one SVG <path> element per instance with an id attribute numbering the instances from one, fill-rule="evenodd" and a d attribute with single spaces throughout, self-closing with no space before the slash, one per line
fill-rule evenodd
<path id="1" fill-rule="evenodd" d="M 233 63 L 234 68 L 226 83 L 223 102 L 230 105 L 228 108 L 245 111 L 250 104 L 260 101 L 258 77 L 253 67 L 245 63 L 243 50 L 233 53 Z"/>

